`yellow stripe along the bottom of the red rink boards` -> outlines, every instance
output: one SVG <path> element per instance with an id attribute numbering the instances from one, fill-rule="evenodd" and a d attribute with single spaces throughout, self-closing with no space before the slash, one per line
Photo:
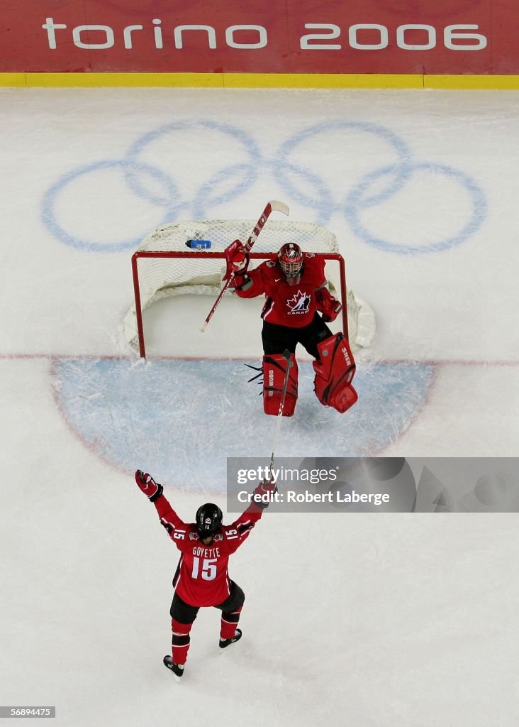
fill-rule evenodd
<path id="1" fill-rule="evenodd" d="M 519 89 L 519 76 L 421 73 L 0 73 L 0 87 Z"/>

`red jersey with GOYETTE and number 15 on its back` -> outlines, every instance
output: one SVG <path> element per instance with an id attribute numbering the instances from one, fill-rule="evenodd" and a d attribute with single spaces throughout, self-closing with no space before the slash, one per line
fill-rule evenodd
<path id="1" fill-rule="evenodd" d="M 190 606 L 218 606 L 231 593 L 227 563 L 263 514 L 253 502 L 245 513 L 232 523 L 222 525 L 211 545 L 204 545 L 195 523 L 184 523 L 161 495 L 154 502 L 160 523 L 181 551 L 173 587 L 182 601 Z"/>

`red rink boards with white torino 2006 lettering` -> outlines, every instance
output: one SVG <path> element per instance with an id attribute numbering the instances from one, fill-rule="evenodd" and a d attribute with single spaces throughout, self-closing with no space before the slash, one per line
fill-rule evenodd
<path id="1" fill-rule="evenodd" d="M 518 0 L 20 0 L 0 72 L 518 74 Z"/>

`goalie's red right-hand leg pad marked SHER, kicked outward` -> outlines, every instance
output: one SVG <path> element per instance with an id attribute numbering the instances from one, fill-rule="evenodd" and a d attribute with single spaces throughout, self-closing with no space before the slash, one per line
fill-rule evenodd
<path id="1" fill-rule="evenodd" d="M 332 406 L 344 414 L 357 401 L 351 385 L 355 360 L 348 341 L 336 333 L 317 345 L 319 361 L 314 361 L 314 391 L 324 406 Z"/>

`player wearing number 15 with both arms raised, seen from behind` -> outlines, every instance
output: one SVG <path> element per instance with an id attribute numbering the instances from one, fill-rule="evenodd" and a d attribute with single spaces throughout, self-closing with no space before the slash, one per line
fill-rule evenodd
<path id="1" fill-rule="evenodd" d="M 181 552 L 173 577 L 175 593 L 170 610 L 172 656 L 163 659 L 179 681 L 189 651 L 189 632 L 200 608 L 214 606 L 221 611 L 220 648 L 242 638 L 237 624 L 245 594 L 229 578 L 227 563 L 229 555 L 248 538 L 277 488 L 271 481 L 259 483 L 245 513 L 232 525 L 223 525 L 220 508 L 211 502 L 198 508 L 195 523 L 184 523 L 165 499 L 163 486 L 151 475 L 137 470 L 135 481 L 155 505 L 160 524 Z"/>

